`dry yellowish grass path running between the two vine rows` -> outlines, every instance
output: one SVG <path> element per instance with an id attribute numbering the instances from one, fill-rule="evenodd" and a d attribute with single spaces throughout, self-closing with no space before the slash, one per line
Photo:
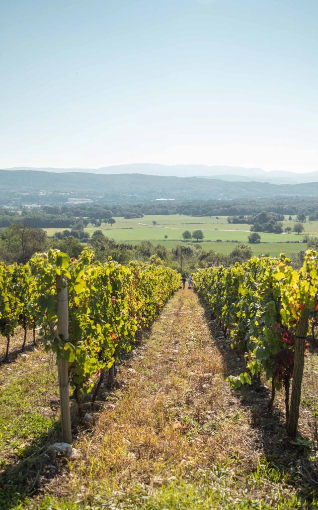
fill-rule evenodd
<path id="1" fill-rule="evenodd" d="M 77 437 L 81 460 L 5 508 L 318 508 L 311 447 L 285 441 L 280 399 L 270 414 L 266 386 L 229 389 L 226 375 L 242 367 L 197 295 L 178 292 L 121 365 L 94 430 Z"/>

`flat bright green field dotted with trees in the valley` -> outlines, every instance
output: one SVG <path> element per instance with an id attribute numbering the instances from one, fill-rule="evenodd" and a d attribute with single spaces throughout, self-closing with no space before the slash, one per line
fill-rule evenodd
<path id="1" fill-rule="evenodd" d="M 283 222 L 284 227 L 287 225 L 293 227 L 295 218 L 291 221 L 287 218 Z M 199 244 L 204 249 L 214 249 L 224 254 L 228 254 L 235 243 L 247 243 L 250 234 L 250 225 L 229 224 L 226 216 L 216 219 L 215 217 L 160 215 L 132 219 L 115 217 L 115 220 L 116 223 L 113 226 L 103 223 L 100 227 L 88 226 L 85 231 L 92 235 L 96 230 L 101 230 L 105 236 L 128 244 L 138 244 L 140 241 L 149 240 L 154 244 L 163 244 L 167 248 L 172 248 L 183 242 L 182 233 L 185 230 L 193 232 L 200 229 L 204 233 L 204 241 L 199 243 L 191 241 L 191 244 Z M 153 221 L 156 221 L 157 225 L 154 226 Z M 318 221 L 307 221 L 303 225 L 305 231 L 301 235 L 259 233 L 261 243 L 251 245 L 254 253 L 278 255 L 280 252 L 285 252 L 291 254 L 304 249 L 306 244 L 301 242 L 303 236 L 305 234 L 318 236 Z M 55 232 L 63 230 L 63 228 L 47 228 L 46 232 L 52 236 Z M 168 236 L 167 240 L 164 238 L 165 235 Z M 221 242 L 216 242 L 217 240 Z"/>

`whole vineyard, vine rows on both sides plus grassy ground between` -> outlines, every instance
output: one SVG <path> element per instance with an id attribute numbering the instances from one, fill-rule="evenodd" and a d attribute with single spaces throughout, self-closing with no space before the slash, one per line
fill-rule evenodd
<path id="1" fill-rule="evenodd" d="M 296 439 L 301 406 L 318 402 L 302 386 L 318 254 L 299 271 L 261 257 L 193 282 L 176 292 L 156 256 L 125 267 L 87 248 L 0 263 L 5 510 L 318 507 L 313 408 L 312 442 Z M 62 439 L 70 463 L 49 453 Z"/>

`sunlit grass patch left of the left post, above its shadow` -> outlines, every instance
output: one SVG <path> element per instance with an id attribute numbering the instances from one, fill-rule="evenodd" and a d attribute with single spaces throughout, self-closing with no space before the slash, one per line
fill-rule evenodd
<path id="1" fill-rule="evenodd" d="M 34 347 L 0 370 L 0 467 L 34 453 L 57 424 L 59 409 L 54 356 Z"/>

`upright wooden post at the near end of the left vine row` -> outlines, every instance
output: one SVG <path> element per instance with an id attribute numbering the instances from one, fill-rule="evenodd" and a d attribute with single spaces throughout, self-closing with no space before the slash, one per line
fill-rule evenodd
<path id="1" fill-rule="evenodd" d="M 59 336 L 63 342 L 67 342 L 69 338 L 69 309 L 67 299 L 67 284 L 62 276 L 56 276 L 56 292 L 57 336 Z M 57 360 L 60 387 L 62 436 L 65 443 L 72 442 L 68 368 L 69 364 L 67 360 L 63 358 Z"/>

